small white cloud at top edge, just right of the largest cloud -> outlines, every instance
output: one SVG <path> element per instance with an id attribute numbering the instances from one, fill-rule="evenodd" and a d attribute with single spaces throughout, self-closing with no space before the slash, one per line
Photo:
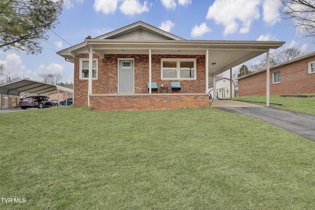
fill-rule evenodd
<path id="1" fill-rule="evenodd" d="M 265 0 L 263 2 L 263 20 L 270 26 L 275 25 L 281 21 L 280 7 L 282 3 L 280 0 Z"/>

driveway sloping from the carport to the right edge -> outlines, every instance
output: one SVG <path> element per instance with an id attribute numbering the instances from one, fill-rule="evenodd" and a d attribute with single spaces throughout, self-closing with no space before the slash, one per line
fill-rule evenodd
<path id="1" fill-rule="evenodd" d="M 264 106 L 251 106 L 250 104 L 241 102 L 226 102 L 228 105 L 224 106 L 224 102 L 219 102 L 217 105 L 213 104 L 214 108 L 220 109 L 226 112 L 237 113 L 252 117 L 274 126 L 280 127 L 291 133 L 295 133 L 306 139 L 315 141 L 315 116 L 306 115 L 288 110 L 283 110 L 273 107 Z"/>

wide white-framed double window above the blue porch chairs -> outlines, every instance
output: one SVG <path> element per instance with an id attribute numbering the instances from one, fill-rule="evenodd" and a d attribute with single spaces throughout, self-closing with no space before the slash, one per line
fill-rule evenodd
<path id="1" fill-rule="evenodd" d="M 195 80 L 196 59 L 161 59 L 161 80 Z"/>

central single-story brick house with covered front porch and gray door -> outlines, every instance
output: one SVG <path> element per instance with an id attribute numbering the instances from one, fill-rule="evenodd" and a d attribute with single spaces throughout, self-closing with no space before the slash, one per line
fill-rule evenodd
<path id="1" fill-rule="evenodd" d="M 88 36 L 57 54 L 74 63 L 75 107 L 167 110 L 209 105 L 209 77 L 283 44 L 186 40 L 139 21 L 93 39 Z M 152 90 L 152 82 L 159 93 Z M 182 91 L 170 93 L 170 82 L 180 82 Z"/>

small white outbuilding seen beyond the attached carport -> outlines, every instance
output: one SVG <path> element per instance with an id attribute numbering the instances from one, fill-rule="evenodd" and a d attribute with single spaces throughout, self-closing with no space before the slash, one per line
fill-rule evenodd
<path id="1" fill-rule="evenodd" d="M 216 91 L 216 95 L 219 98 L 229 98 L 231 96 L 231 90 L 230 90 L 230 79 L 228 78 L 222 78 L 220 80 L 216 80 L 216 90 L 213 88 L 213 82 L 209 84 L 208 92 L 211 93 L 212 97 L 214 97 L 214 91 Z M 235 96 L 235 90 L 234 90 L 234 82 L 232 80 L 232 96 Z"/>

